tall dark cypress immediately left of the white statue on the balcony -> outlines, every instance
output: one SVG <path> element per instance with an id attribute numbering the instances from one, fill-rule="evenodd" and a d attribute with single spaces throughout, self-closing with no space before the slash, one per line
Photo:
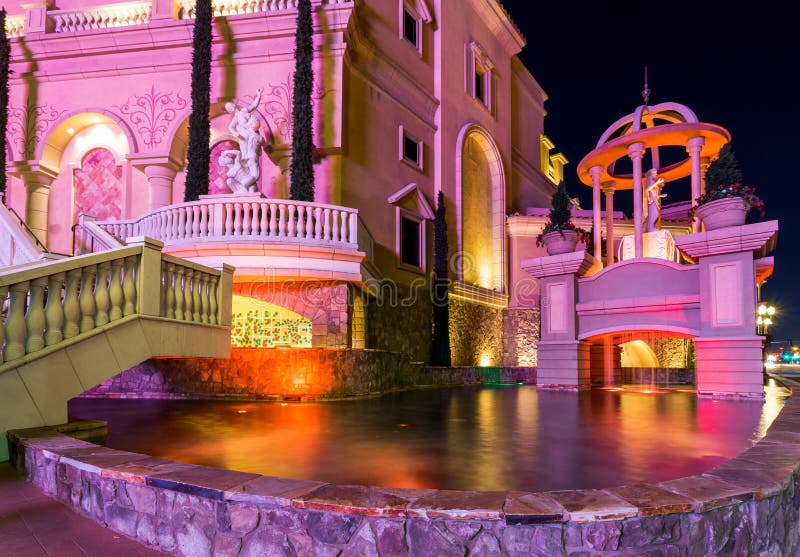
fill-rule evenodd
<path id="1" fill-rule="evenodd" d="M 192 112 L 189 115 L 189 161 L 184 201 L 208 193 L 211 149 L 211 0 L 195 4 L 192 42 Z"/>

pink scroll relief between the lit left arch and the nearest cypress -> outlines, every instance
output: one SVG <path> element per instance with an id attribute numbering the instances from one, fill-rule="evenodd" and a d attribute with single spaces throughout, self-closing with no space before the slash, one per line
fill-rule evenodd
<path id="1" fill-rule="evenodd" d="M 136 129 L 145 147 L 157 147 L 166 137 L 169 125 L 178 117 L 178 111 L 188 102 L 176 92 L 156 91 L 155 85 L 143 95 L 134 95 L 122 106 L 117 106 Z"/>

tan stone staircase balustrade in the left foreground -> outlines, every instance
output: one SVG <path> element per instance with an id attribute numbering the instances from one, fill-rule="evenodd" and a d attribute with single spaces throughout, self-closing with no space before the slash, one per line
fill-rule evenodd
<path id="1" fill-rule="evenodd" d="M 127 247 L 0 272 L 0 366 L 131 315 L 230 325 L 233 268 Z M 227 312 L 227 313 L 226 313 Z"/>

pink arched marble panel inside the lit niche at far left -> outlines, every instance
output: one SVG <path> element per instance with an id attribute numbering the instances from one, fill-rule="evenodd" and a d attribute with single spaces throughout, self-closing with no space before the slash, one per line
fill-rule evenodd
<path id="1" fill-rule="evenodd" d="M 81 214 L 97 220 L 122 218 L 122 166 L 108 149 L 92 149 L 73 171 L 75 209 L 73 223 Z"/>

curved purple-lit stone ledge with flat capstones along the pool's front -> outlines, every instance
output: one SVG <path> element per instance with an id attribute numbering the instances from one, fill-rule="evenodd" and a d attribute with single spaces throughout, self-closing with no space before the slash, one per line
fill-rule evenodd
<path id="1" fill-rule="evenodd" d="M 791 555 L 800 525 L 800 399 L 707 473 L 542 493 L 332 485 L 16 432 L 29 481 L 177 555 Z M 652 553 L 651 553 L 652 552 Z"/>

